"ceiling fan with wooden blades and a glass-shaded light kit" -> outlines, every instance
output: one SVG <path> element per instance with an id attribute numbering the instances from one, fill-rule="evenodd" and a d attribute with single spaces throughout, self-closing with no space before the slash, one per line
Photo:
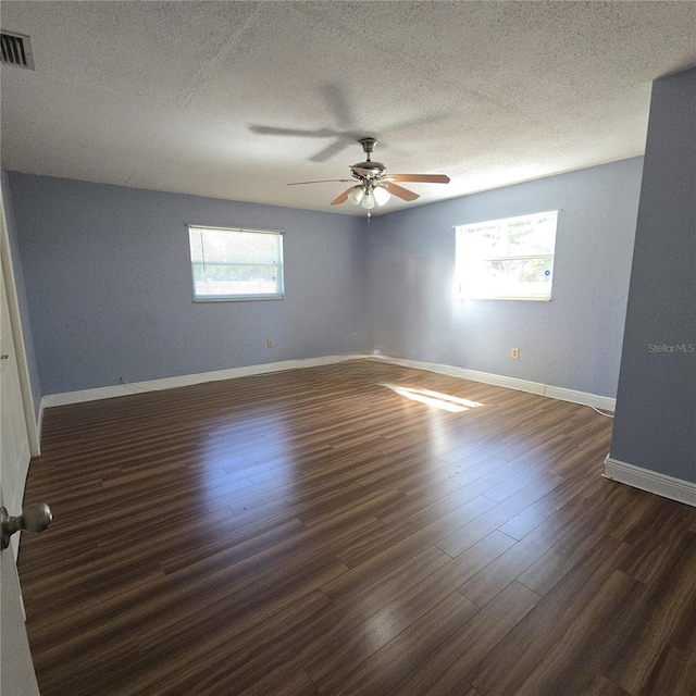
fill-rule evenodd
<path id="1" fill-rule="evenodd" d="M 384 206 L 391 196 L 401 200 L 411 201 L 419 198 L 418 194 L 403 188 L 396 182 L 412 182 L 418 184 L 449 184 L 449 176 L 445 174 L 387 174 L 387 167 L 382 162 L 373 162 L 371 159 L 375 138 L 361 138 L 358 140 L 365 153 L 365 161 L 358 162 L 350 166 L 352 178 L 332 178 L 319 182 L 295 182 L 288 186 L 299 186 L 301 184 L 325 184 L 327 182 L 351 182 L 353 186 L 345 190 L 338 198 L 334 199 L 332 206 L 340 206 L 349 200 L 355 206 L 362 206 L 368 211 L 375 206 Z M 355 183 L 357 182 L 357 183 Z M 370 214 L 370 213 L 368 213 Z"/>

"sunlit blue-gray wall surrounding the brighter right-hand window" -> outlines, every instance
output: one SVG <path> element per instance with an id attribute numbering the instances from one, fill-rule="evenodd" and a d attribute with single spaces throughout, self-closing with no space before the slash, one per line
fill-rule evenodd
<path id="1" fill-rule="evenodd" d="M 614 397 L 642 164 L 624 160 L 374 220 L 375 350 Z M 561 213 L 550 302 L 451 299 L 455 225 L 554 209 Z"/>

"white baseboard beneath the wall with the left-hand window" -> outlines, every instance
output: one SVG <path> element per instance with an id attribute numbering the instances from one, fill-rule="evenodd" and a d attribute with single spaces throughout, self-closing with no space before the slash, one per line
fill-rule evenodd
<path id="1" fill-rule="evenodd" d="M 44 409 L 53 406 L 66 406 L 69 403 L 82 403 L 84 401 L 97 401 L 99 399 L 112 399 L 119 396 L 132 396 L 141 391 L 162 391 L 176 387 L 187 387 L 204 382 L 219 382 L 221 380 L 234 380 L 254 374 L 282 372 L 283 370 L 297 370 L 299 368 L 314 368 L 316 365 L 330 365 L 346 360 L 363 359 L 363 355 L 326 356 L 323 358 L 307 358 L 304 360 L 284 360 L 282 362 L 269 362 L 246 368 L 229 368 L 214 372 L 201 372 L 198 374 L 184 374 L 177 377 L 164 377 L 162 380 L 148 380 L 128 384 L 115 384 L 110 387 L 97 387 L 96 389 L 83 389 L 80 391 L 65 391 L 63 394 L 48 394 L 41 397 L 39 413 L 42 418 Z"/>

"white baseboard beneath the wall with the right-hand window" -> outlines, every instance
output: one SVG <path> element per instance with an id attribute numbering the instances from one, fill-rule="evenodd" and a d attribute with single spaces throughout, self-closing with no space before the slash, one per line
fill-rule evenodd
<path id="1" fill-rule="evenodd" d="M 430 372 L 447 374 L 451 377 L 459 377 L 460 380 L 471 380 L 472 382 L 483 382 L 484 384 L 493 384 L 508 389 L 529 391 L 530 394 L 538 394 L 539 396 L 547 396 L 551 399 L 560 399 L 561 401 L 572 401 L 573 403 L 592 406 L 605 411 L 613 411 L 617 405 L 617 400 L 608 396 L 599 396 L 597 394 L 589 394 L 588 391 L 577 391 L 576 389 L 567 389 L 566 387 L 555 387 L 548 384 L 542 384 L 540 382 L 531 382 L 530 380 L 506 377 L 500 374 L 480 372 L 478 370 L 468 370 L 467 368 L 456 368 L 453 365 L 445 365 L 437 362 L 405 360 L 401 358 L 390 358 L 389 356 L 382 355 L 375 355 L 373 358 L 384 360 L 385 362 L 390 362 L 393 364 L 403 365 L 405 368 L 428 370 Z"/>

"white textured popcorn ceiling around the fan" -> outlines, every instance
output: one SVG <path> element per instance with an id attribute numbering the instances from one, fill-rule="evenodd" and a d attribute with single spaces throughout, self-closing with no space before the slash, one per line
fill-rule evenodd
<path id="1" fill-rule="evenodd" d="M 1 69 L 3 169 L 357 214 L 328 206 L 346 184 L 287 184 L 348 177 L 360 136 L 389 172 L 452 179 L 382 210 L 642 154 L 651 80 L 696 64 L 696 2 L 5 1 L 0 16 L 36 62 Z"/>

